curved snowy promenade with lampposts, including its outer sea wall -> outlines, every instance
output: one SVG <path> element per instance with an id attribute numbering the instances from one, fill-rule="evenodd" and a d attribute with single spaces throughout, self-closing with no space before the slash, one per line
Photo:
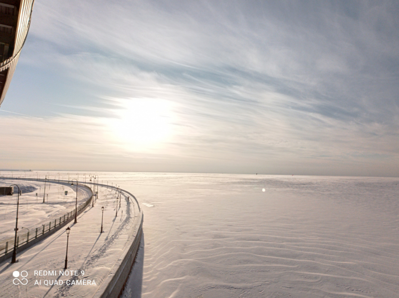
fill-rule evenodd
<path id="1" fill-rule="evenodd" d="M 37 179 L 29 180 L 37 181 Z M 141 240 L 143 211 L 136 197 L 128 191 L 119 189 L 121 195 L 118 200 L 116 187 L 108 185 L 107 188 L 105 184 L 98 185 L 101 188 L 99 187 L 99 196 L 94 201 L 94 207 L 87 208 L 91 206 L 88 204 L 85 210 L 79 213 L 78 223 L 69 225 L 71 233 L 68 270 L 85 272 L 84 277 L 55 277 L 54 280 L 61 282 L 62 279 L 64 284 L 48 287 L 34 286 L 35 279 L 36 282 L 40 280 L 44 282 L 45 279 L 45 277 L 34 277 L 34 270 L 56 270 L 57 274 L 58 271 L 63 271 L 67 237 L 65 231 L 57 230 L 46 239 L 21 252 L 17 256 L 19 263 L 0 264 L 0 284 L 4 289 L 3 293 L 0 293 L 0 298 L 9 297 L 11 293 L 16 296 L 18 293 L 19 295 L 29 293 L 35 297 L 59 298 L 82 295 L 95 298 L 120 296 L 131 272 Z M 101 206 L 104 206 L 104 233 L 99 233 L 102 225 Z M 31 278 L 26 286 L 27 289 L 24 288 L 25 286 L 12 285 L 14 270 L 26 270 L 29 273 Z M 95 281 L 95 285 L 79 284 L 86 279 Z M 76 284 L 71 286 L 71 283 Z"/>

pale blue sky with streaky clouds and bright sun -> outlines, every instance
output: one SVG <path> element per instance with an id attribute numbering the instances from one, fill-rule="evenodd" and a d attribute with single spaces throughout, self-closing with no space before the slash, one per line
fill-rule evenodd
<path id="1" fill-rule="evenodd" d="M 0 168 L 399 176 L 398 13 L 35 0 Z"/>

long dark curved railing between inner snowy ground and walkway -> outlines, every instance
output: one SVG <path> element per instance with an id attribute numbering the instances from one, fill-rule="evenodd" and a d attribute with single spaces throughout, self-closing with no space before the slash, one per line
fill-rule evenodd
<path id="1" fill-rule="evenodd" d="M 43 182 L 45 180 L 46 182 L 54 182 L 54 183 L 60 183 L 60 184 L 68 183 L 68 181 L 54 180 L 54 179 L 50 180 L 50 179 L 16 178 L 16 177 L 15 178 L 14 177 L 0 177 L 0 179 L 43 181 Z M 90 187 L 88 187 L 87 185 L 83 185 L 83 182 L 79 182 L 79 183 L 82 183 L 82 186 L 87 187 L 92 192 Z M 81 213 L 87 207 L 88 204 L 91 203 L 92 198 L 93 198 L 93 192 L 92 192 L 92 195 L 90 196 L 90 198 L 86 202 L 81 203 L 77 206 L 76 216 L 79 213 Z M 29 242 L 31 243 L 33 241 L 35 243 L 39 239 L 46 238 L 47 236 L 51 235 L 53 232 L 55 232 L 62 226 L 66 225 L 74 217 L 75 217 L 75 208 L 61 216 L 53 217 L 50 221 L 48 221 L 40 226 L 31 228 L 25 233 L 23 233 L 22 231 L 18 232 L 17 238 L 16 238 L 16 247 L 22 248 L 21 246 L 23 246 L 23 245 L 28 247 L 27 245 L 29 244 Z M 5 255 L 12 252 L 13 247 L 14 247 L 14 239 L 15 239 L 15 237 L 12 236 L 12 237 L 8 237 L 5 240 L 0 242 L 0 258 L 1 259 L 3 259 L 3 257 Z M 20 249 L 20 250 L 22 250 L 22 249 Z"/>

